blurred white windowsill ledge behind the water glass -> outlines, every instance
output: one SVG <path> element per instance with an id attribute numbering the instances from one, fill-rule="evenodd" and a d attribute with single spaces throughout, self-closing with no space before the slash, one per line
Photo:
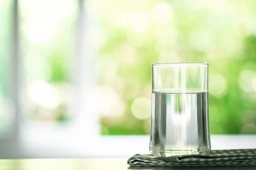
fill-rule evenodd
<path id="1" fill-rule="evenodd" d="M 99 140 L 89 140 L 90 143 L 70 142 L 68 138 L 55 140 L 54 137 L 45 141 L 37 137 L 15 147 L 0 143 L 0 159 L 128 158 L 136 153 L 150 154 L 149 135 L 101 136 Z M 256 135 L 211 135 L 211 146 L 212 150 L 256 148 Z"/>

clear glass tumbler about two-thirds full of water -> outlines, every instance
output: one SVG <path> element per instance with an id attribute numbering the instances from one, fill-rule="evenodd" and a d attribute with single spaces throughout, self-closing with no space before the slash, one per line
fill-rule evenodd
<path id="1" fill-rule="evenodd" d="M 149 150 L 154 156 L 211 150 L 208 63 L 154 63 Z"/>

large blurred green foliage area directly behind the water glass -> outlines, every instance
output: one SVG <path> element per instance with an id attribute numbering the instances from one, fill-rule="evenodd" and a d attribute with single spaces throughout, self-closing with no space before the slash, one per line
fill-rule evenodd
<path id="1" fill-rule="evenodd" d="M 256 134 L 255 1 L 100 2 L 103 134 L 149 133 L 155 62 L 209 62 L 210 133 Z"/>

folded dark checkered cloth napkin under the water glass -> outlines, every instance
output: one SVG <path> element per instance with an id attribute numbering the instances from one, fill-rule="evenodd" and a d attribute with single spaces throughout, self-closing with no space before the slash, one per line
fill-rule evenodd
<path id="1" fill-rule="evenodd" d="M 154 157 L 136 154 L 127 163 L 134 167 L 151 166 L 256 166 L 256 149 L 212 150 L 198 155 Z"/>

